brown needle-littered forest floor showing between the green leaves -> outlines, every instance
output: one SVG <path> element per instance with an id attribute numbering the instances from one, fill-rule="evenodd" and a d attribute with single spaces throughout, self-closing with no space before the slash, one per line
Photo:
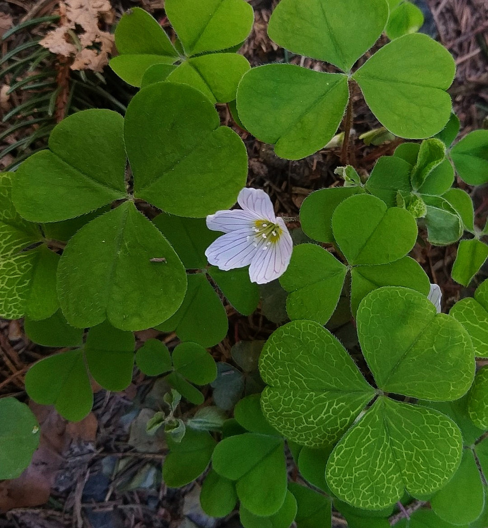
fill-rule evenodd
<path id="1" fill-rule="evenodd" d="M 250 3 L 255 9 L 255 25 L 240 52 L 253 66 L 283 60 L 284 50 L 271 42 L 266 33 L 276 0 L 250 0 Z M 111 5 L 114 21 L 128 8 L 139 5 L 163 25 L 167 24 L 164 0 L 111 0 Z M 449 93 L 461 120 L 462 135 L 488 128 L 488 3 L 486 0 L 427 0 L 424 8 L 423 31 L 446 46 L 457 64 Z M 55 0 L 0 1 L 0 36 L 12 25 L 55 14 L 57 9 Z M 49 26 L 39 27 L 41 30 L 36 31 L 42 32 Z M 4 40 L 2 55 L 29 40 L 32 36 L 29 32 L 27 27 Z M 327 68 L 320 61 L 299 56 L 292 56 L 289 61 L 322 71 Z M 59 63 L 55 67 L 59 81 L 62 70 Z M 7 80 L 8 77 L 0 82 L 0 117 L 22 103 L 15 99 L 15 94 L 6 96 Z M 392 154 L 398 143 L 377 148 L 364 145 L 358 136 L 379 124 L 359 92 L 353 96 L 353 108 L 354 165 L 359 172 L 369 172 L 377 158 Z M 220 105 L 219 111 L 223 124 L 232 126 L 247 146 L 248 184 L 264 188 L 279 214 L 297 216 L 299 206 L 312 190 L 340 184 L 334 175 L 335 167 L 341 165 L 340 149 L 323 149 L 300 161 L 287 161 L 278 158 L 272 147 L 234 125 L 226 106 Z M 8 120 L 0 123 L 0 135 L 9 126 Z M 22 138 L 22 134 L 27 134 L 27 130 L 7 136 L 0 144 L 0 169 L 11 164 L 16 154 L 13 150 L 2 157 L 2 151 Z M 486 185 L 476 189 L 462 182 L 458 185 L 471 193 L 481 225 L 488 212 Z M 428 243 L 417 244 L 413 253 L 431 281 L 442 288 L 444 312 L 456 300 L 472 293 L 451 279 L 455 253 L 455 246 L 436 248 Z M 485 266 L 480 279 L 486 276 Z M 243 317 L 229 306 L 228 314 L 229 335 L 212 350 L 218 361 L 228 360 L 230 347 L 237 340 L 266 339 L 276 328 L 259 308 L 254 315 Z M 145 331 L 136 333 L 137 346 L 154 336 L 162 337 L 170 346 L 177 341 L 174 334 Z M 22 320 L 0 320 L 0 395 L 25 401 L 25 372 L 35 361 L 54 352 L 59 350 L 31 343 L 23 333 Z M 162 390 L 161 383 L 154 383 L 154 379 L 137 372 L 124 392 L 97 391 L 92 413 L 78 423 L 68 423 L 53 408 L 31 402 L 41 423 L 41 447 L 20 478 L 0 482 L 0 512 L 4 512 L 0 513 L 0 528 L 238 528 L 235 513 L 217 520 L 201 512 L 198 483 L 175 490 L 161 482 L 166 445 L 160 435 L 147 437 L 145 422 Z M 334 522 L 336 526 L 346 526 L 340 516 Z"/>

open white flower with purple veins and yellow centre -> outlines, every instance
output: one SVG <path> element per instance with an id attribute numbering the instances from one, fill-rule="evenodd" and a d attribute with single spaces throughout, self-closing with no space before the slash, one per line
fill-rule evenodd
<path id="1" fill-rule="evenodd" d="M 243 188 L 237 197 L 242 210 L 217 211 L 207 216 L 207 227 L 223 231 L 205 251 L 209 263 L 222 270 L 249 266 L 251 282 L 265 284 L 283 275 L 292 256 L 292 237 L 277 218 L 269 196 L 260 189 Z"/>

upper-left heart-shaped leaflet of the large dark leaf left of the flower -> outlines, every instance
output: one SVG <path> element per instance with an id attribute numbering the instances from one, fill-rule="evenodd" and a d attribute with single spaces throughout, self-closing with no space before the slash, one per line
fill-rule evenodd
<path id="1" fill-rule="evenodd" d="M 17 211 L 34 222 L 57 222 L 124 198 L 123 124 L 117 112 L 91 109 L 56 125 L 50 150 L 33 154 L 15 173 Z"/>

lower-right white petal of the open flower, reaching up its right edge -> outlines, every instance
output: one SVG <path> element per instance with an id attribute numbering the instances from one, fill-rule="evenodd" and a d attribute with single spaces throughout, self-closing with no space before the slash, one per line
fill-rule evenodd
<path id="1" fill-rule="evenodd" d="M 258 246 L 256 254 L 249 266 L 249 277 L 251 282 L 257 284 L 266 284 L 271 282 L 284 274 L 290 258 L 292 257 L 293 241 L 285 222 L 280 218 L 277 219 L 278 224 L 283 229 L 278 242 L 267 246 L 261 244 Z"/>

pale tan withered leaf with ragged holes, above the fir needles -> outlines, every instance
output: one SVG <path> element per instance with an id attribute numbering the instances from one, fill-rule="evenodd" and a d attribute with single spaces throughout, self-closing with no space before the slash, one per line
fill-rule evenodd
<path id="1" fill-rule="evenodd" d="M 72 70 L 101 72 L 114 46 L 114 35 L 98 27 L 100 22 L 114 21 L 109 0 L 64 0 L 60 2 L 60 12 L 61 25 L 50 31 L 41 45 L 72 59 Z"/>

